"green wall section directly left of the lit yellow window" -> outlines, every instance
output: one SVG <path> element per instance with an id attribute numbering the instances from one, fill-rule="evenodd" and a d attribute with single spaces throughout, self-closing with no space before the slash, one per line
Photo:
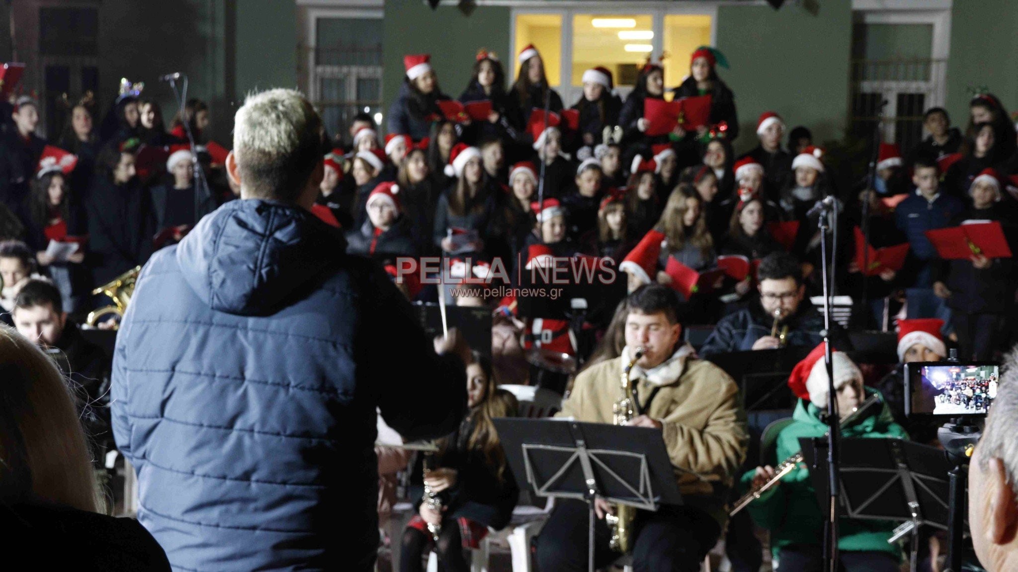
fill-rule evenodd
<path id="1" fill-rule="evenodd" d="M 431 54 L 442 90 L 459 97 L 470 80 L 473 55 L 479 48 L 495 51 L 506 65 L 515 62 L 509 54 L 509 24 L 507 7 L 478 7 L 467 16 L 453 6 L 432 10 L 419 0 L 387 1 L 382 41 L 386 112 L 399 95 L 405 54 Z M 506 74 L 511 72 L 506 70 Z"/>

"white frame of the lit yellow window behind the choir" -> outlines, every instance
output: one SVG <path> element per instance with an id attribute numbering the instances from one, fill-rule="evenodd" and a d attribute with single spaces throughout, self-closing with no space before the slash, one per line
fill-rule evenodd
<path id="1" fill-rule="evenodd" d="M 559 92 L 562 96 L 562 101 L 567 106 L 571 105 L 569 102 L 573 102 L 579 99 L 583 88 L 580 85 L 572 85 L 572 22 L 573 16 L 577 14 L 648 14 L 652 18 L 651 25 L 654 31 L 654 39 L 651 41 L 651 45 L 654 46 L 655 56 L 660 56 L 662 48 L 664 46 L 664 32 L 665 32 L 665 16 L 666 15 L 703 15 L 711 17 L 711 45 L 716 44 L 718 37 L 718 6 L 722 4 L 731 4 L 733 2 L 728 1 L 718 1 L 718 2 L 696 2 L 696 3 L 678 3 L 678 2 L 625 2 L 622 5 L 619 4 L 608 4 L 602 5 L 600 3 L 591 2 L 580 2 L 572 0 L 561 0 L 561 1 L 548 1 L 540 3 L 540 6 L 535 6 L 534 2 L 521 2 L 507 1 L 502 2 L 499 0 L 477 0 L 477 5 L 509 5 L 512 7 L 509 14 L 509 43 L 510 52 L 512 54 L 512 65 L 509 71 L 509 76 L 512 80 L 516 78 L 516 71 L 519 68 L 518 62 L 516 61 L 516 55 L 519 53 L 522 46 L 516 45 L 516 18 L 520 15 L 527 14 L 555 14 L 562 18 L 562 30 L 559 42 L 562 46 L 562 53 L 560 54 L 560 67 L 559 67 L 559 77 L 553 78 L 549 77 L 548 82 L 552 84 L 552 88 Z M 756 5 L 765 4 L 762 0 L 759 2 L 735 2 L 740 5 Z M 672 54 L 674 56 L 674 54 Z M 616 88 L 616 93 L 619 94 L 623 99 L 629 95 L 632 91 L 631 87 L 619 87 Z"/>

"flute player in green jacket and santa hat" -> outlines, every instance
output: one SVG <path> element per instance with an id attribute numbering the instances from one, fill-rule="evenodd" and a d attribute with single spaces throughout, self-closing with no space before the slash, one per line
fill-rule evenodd
<path id="1" fill-rule="evenodd" d="M 833 354 L 837 411 L 842 419 L 867 398 L 879 395 L 863 386 L 862 373 L 840 351 Z M 800 452 L 799 439 L 823 437 L 828 432 L 824 420 L 829 393 L 824 345 L 821 344 L 792 370 L 788 380 L 793 393 L 801 399 L 792 414 L 793 421 L 778 434 L 776 455 L 770 463 L 742 475 L 742 492 L 770 480 L 774 466 Z M 848 426 L 843 438 L 906 439 L 905 430 L 894 422 L 886 404 L 869 406 Z M 756 524 L 771 531 L 771 547 L 782 570 L 815 570 L 823 567 L 824 514 L 816 506 L 809 468 L 798 465 L 778 484 L 764 492 L 746 509 Z M 794 518 L 790 517 L 794 515 Z M 838 524 L 838 551 L 846 572 L 898 572 L 901 548 L 889 544 L 894 522 L 860 521 L 842 517 Z"/>

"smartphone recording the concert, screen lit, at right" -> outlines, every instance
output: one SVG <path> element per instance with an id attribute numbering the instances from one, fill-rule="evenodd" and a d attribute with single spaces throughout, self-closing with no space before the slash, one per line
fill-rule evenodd
<path id="1" fill-rule="evenodd" d="M 905 364 L 908 415 L 985 415 L 997 396 L 1000 365 L 991 362 Z"/>

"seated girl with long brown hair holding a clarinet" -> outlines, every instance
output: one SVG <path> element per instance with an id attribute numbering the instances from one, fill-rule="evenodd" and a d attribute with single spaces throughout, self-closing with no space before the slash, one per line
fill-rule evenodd
<path id="1" fill-rule="evenodd" d="M 403 533 L 403 572 L 422 570 L 421 556 L 434 542 L 428 530 L 430 522 L 442 526 L 435 551 L 443 569 L 469 570 L 463 549 L 478 548 L 489 527 L 505 527 L 516 506 L 519 489 L 506 466 L 505 452 L 492 421 L 495 417 L 514 416 L 515 407 L 512 400 L 497 395 L 491 361 L 476 351 L 466 366 L 466 388 L 469 412 L 458 430 L 439 441 L 439 451 L 433 458 L 435 468 L 425 472 L 421 458 L 411 472 L 411 478 L 423 475 L 423 481 L 411 485 L 411 498 L 421 498 L 427 483 L 442 499 L 443 512 L 439 514 L 427 503 L 419 503 L 418 514 Z"/>

